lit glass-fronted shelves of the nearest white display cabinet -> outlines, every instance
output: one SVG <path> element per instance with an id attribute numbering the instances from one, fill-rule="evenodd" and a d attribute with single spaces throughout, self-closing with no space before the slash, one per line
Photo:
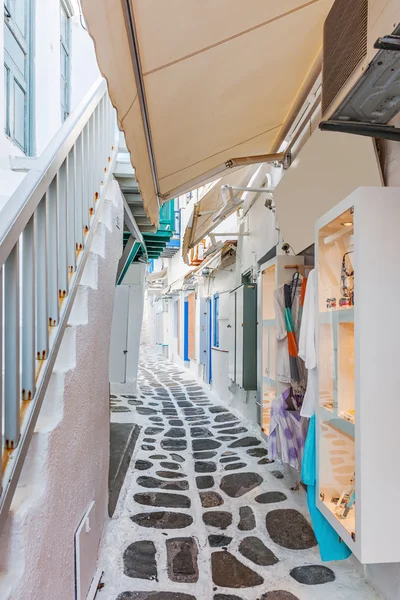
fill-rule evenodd
<path id="1" fill-rule="evenodd" d="M 319 231 L 319 496 L 356 535 L 353 207 Z M 351 275 L 350 275 L 351 273 Z"/>

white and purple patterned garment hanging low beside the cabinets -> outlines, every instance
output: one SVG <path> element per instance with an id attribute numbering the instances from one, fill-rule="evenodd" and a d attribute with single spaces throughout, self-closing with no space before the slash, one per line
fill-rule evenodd
<path id="1" fill-rule="evenodd" d="M 268 436 L 268 456 L 280 458 L 294 469 L 300 470 L 308 421 L 298 410 L 288 410 L 291 388 L 275 398 L 271 407 L 271 422 Z"/>

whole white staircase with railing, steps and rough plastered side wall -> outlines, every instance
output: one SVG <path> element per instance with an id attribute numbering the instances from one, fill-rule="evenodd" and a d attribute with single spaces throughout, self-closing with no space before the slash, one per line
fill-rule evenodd
<path id="1" fill-rule="evenodd" d="M 73 600 L 75 531 L 94 501 L 95 560 L 107 515 L 116 135 L 101 81 L 0 215 L 2 600 Z"/>

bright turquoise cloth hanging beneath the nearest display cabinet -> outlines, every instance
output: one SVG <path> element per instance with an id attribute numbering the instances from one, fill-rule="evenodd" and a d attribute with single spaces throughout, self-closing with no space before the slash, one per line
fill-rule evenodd
<path id="1" fill-rule="evenodd" d="M 307 486 L 307 504 L 315 537 L 319 544 L 321 560 L 345 560 L 351 555 L 351 550 L 341 541 L 332 525 L 325 519 L 316 506 L 316 438 L 315 438 L 315 416 L 310 419 L 307 439 L 304 448 L 301 479 Z"/>

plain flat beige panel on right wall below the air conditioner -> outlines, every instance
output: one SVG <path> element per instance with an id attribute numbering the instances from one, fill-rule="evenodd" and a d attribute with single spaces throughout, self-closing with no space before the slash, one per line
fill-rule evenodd
<path id="1" fill-rule="evenodd" d="M 274 191 L 285 242 L 302 252 L 314 243 L 319 217 L 360 186 L 380 185 L 374 140 L 317 129 Z"/>

